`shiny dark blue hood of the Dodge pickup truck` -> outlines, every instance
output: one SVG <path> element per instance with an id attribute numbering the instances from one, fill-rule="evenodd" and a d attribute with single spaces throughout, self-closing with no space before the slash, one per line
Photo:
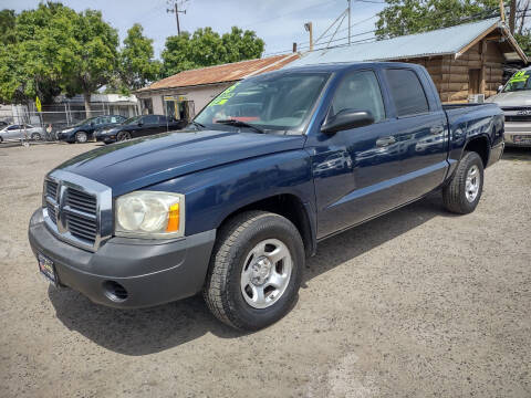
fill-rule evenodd
<path id="1" fill-rule="evenodd" d="M 246 158 L 301 149 L 305 136 L 219 130 L 176 132 L 108 145 L 58 169 L 93 179 L 118 196 Z"/>

